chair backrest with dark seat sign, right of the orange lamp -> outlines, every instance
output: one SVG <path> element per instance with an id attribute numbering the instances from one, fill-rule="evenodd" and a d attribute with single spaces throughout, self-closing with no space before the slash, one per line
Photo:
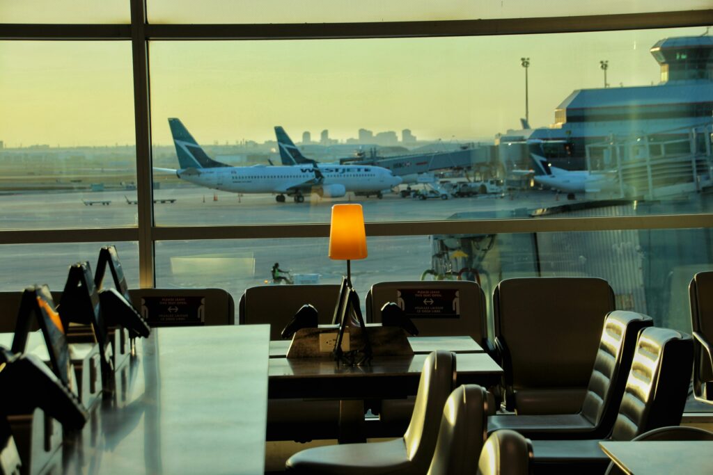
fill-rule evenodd
<path id="1" fill-rule="evenodd" d="M 430 294 L 430 296 L 429 296 Z M 424 300 L 431 304 L 424 303 Z M 379 282 L 366 294 L 366 313 L 371 321 L 381 322 L 381 307 L 395 302 L 419 329 L 419 336 L 468 335 L 478 343 L 488 338 L 485 294 L 471 281 L 393 281 Z M 414 308 L 416 303 L 419 308 Z M 447 307 L 434 311 L 439 304 Z M 413 311 L 409 311 L 413 310 Z M 419 313 L 416 314 L 416 311 Z"/>

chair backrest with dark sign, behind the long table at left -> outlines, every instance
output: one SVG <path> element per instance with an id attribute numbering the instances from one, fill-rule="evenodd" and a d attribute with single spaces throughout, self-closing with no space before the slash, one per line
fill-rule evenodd
<path id="1" fill-rule="evenodd" d="M 222 288 L 131 288 L 129 294 L 151 327 L 235 325 L 235 302 Z"/>

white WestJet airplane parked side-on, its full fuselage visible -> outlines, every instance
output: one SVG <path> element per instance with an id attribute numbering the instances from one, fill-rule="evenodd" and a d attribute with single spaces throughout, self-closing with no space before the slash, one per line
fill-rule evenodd
<path id="1" fill-rule="evenodd" d="M 180 169 L 154 168 L 173 172 L 180 179 L 202 187 L 234 193 L 275 193 L 277 202 L 291 196 L 296 203 L 304 202 L 304 194 L 320 197 L 343 197 L 347 192 L 374 194 L 381 198 L 384 191 L 401 183 L 391 170 L 382 167 L 356 165 L 314 165 L 232 167 L 216 162 L 206 155 L 179 119 L 168 119 Z"/>

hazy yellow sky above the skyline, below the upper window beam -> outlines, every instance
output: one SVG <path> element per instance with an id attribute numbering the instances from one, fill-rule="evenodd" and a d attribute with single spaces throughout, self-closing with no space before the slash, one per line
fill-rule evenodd
<path id="1" fill-rule="evenodd" d="M 3 0 L 0 0 L 2 2 Z M 365 127 L 410 128 L 419 139 L 493 137 L 525 115 L 553 122 L 573 90 L 659 81 L 649 48 L 704 28 L 529 36 L 329 41 L 163 41 L 150 44 L 154 141 L 167 118 L 202 143 L 296 141 L 322 129 L 344 140 Z M 0 140 L 32 144 L 133 144 L 130 43 L 0 42 Z"/>

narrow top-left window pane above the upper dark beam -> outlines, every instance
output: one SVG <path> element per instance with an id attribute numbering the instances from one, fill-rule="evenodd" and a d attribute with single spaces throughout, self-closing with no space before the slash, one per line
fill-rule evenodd
<path id="1" fill-rule="evenodd" d="M 125 0 L 0 0 L 0 23 L 129 23 Z"/>

